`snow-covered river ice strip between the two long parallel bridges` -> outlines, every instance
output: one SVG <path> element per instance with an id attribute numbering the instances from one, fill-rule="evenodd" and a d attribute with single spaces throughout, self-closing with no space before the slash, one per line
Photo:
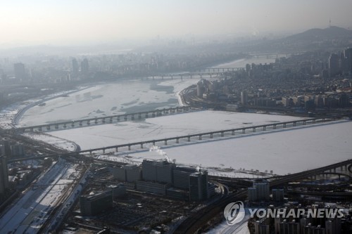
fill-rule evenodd
<path id="1" fill-rule="evenodd" d="M 187 134 L 197 134 L 242 126 L 270 124 L 301 119 L 284 115 L 263 115 L 239 112 L 199 111 L 149 118 L 143 122 L 121 122 L 77 129 L 50 131 L 48 134 L 68 139 L 82 150 L 148 141 Z"/>

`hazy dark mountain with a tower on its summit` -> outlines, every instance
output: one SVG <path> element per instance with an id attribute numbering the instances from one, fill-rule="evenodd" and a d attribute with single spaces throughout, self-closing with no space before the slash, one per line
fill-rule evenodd
<path id="1" fill-rule="evenodd" d="M 330 39 L 352 38 L 352 30 L 346 30 L 343 27 L 327 27 L 325 29 L 314 28 L 286 37 L 285 41 L 322 41 Z"/>

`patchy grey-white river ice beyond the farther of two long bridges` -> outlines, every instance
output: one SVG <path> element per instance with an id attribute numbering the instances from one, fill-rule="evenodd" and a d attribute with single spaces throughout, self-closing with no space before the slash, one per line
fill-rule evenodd
<path id="1" fill-rule="evenodd" d="M 179 103 L 177 94 L 198 81 L 199 78 L 149 79 L 96 84 L 68 96 L 47 100 L 44 106 L 34 105 L 23 114 L 19 126 L 175 107 Z"/>

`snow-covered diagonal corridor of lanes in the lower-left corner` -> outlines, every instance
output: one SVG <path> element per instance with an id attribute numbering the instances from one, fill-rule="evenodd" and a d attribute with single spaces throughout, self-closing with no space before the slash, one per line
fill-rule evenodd
<path id="1" fill-rule="evenodd" d="M 79 171 L 60 160 L 1 217 L 1 233 L 37 233 Z"/>

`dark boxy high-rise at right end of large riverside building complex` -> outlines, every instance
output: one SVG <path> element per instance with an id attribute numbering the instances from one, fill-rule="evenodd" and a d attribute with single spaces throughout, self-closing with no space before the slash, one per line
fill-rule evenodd
<path id="1" fill-rule="evenodd" d="M 189 176 L 189 200 L 208 199 L 208 171 L 199 171 Z"/>

